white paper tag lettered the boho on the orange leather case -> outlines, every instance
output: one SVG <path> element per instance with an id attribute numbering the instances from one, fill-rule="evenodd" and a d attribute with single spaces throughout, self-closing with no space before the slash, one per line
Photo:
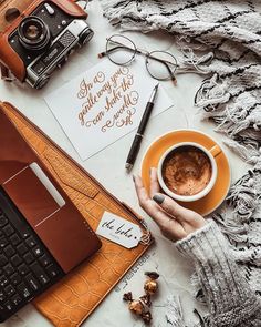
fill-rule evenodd
<path id="1" fill-rule="evenodd" d="M 143 232 L 137 224 L 108 212 L 103 214 L 96 233 L 126 248 L 136 247 L 143 236 Z"/>

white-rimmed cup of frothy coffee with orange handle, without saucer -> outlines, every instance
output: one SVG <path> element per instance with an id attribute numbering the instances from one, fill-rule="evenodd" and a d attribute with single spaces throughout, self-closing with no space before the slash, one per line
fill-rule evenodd
<path id="1" fill-rule="evenodd" d="M 217 178 L 215 156 L 218 145 L 207 150 L 200 144 L 179 143 L 166 151 L 158 165 L 161 188 L 179 201 L 196 201 L 207 195 Z"/>

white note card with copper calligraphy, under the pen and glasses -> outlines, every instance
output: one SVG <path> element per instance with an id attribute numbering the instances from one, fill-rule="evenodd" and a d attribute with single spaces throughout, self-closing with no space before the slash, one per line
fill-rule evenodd
<path id="1" fill-rule="evenodd" d="M 45 96 L 45 102 L 82 160 L 138 126 L 157 81 L 144 60 L 119 67 L 104 59 Z M 161 86 L 153 116 L 173 105 Z"/>

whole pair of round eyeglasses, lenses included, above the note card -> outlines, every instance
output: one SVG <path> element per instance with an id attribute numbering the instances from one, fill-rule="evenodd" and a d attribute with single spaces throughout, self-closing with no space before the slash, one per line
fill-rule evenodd
<path id="1" fill-rule="evenodd" d="M 118 65 L 130 64 L 136 54 L 145 55 L 146 69 L 149 75 L 159 81 L 171 80 L 177 84 L 175 71 L 178 67 L 176 58 L 166 51 L 147 52 L 138 49 L 135 43 L 125 35 L 115 34 L 107 39 L 106 51 L 98 54 L 98 58 L 105 55 Z"/>

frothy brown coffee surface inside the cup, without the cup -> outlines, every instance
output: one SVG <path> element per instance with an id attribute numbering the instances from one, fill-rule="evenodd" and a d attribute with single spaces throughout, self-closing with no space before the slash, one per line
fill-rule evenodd
<path id="1" fill-rule="evenodd" d="M 163 164 L 163 178 L 167 187 L 178 195 L 195 195 L 210 182 L 212 167 L 207 154 L 191 145 L 170 152 Z"/>

